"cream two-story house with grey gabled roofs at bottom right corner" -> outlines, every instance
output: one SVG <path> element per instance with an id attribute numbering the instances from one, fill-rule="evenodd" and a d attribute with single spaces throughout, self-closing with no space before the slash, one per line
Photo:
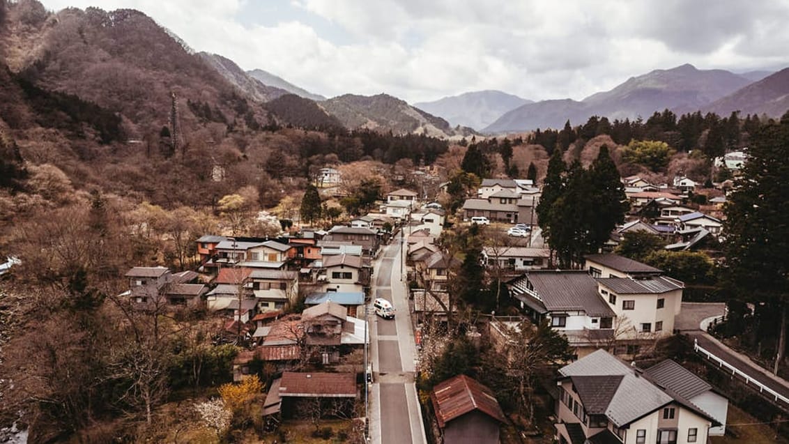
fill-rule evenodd
<path id="1" fill-rule="evenodd" d="M 720 425 L 699 405 L 605 350 L 560 368 L 559 375 L 554 427 L 561 444 L 704 443 L 710 427 Z"/>

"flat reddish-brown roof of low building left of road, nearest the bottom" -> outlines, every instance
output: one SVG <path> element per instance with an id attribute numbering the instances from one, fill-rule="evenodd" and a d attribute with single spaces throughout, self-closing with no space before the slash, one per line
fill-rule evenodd
<path id="1" fill-rule="evenodd" d="M 279 384 L 280 397 L 356 397 L 353 373 L 300 373 L 285 371 Z"/>

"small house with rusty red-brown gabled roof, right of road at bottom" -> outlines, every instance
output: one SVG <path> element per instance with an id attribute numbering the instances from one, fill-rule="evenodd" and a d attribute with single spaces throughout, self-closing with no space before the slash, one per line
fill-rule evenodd
<path id="1" fill-rule="evenodd" d="M 492 390 L 466 375 L 439 382 L 430 401 L 444 444 L 498 444 L 507 418 Z"/>

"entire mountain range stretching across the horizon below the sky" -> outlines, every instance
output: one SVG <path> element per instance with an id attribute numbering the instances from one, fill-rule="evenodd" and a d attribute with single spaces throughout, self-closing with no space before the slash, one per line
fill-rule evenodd
<path id="1" fill-rule="evenodd" d="M 693 65 L 634 76 L 581 101 L 532 102 L 503 91 L 471 91 L 413 106 L 387 94 L 326 99 L 263 69 L 245 72 L 221 55 L 194 53 L 133 9 L 69 8 L 53 14 L 30 0 L 9 4 L 6 22 L 12 29 L 0 35 L 0 62 L 11 72 L 37 88 L 119 113 L 137 136 L 161 128 L 172 95 L 187 105 L 179 111 L 186 126 L 222 121 L 256 128 L 274 121 L 442 138 L 476 134 L 473 129 L 495 134 L 560 128 L 593 115 L 649 118 L 669 109 L 778 117 L 789 108 L 787 69 L 735 74 Z"/>

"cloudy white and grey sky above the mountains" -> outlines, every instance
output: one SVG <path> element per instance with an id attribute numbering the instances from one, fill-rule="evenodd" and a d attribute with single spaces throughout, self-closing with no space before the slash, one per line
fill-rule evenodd
<path id="1" fill-rule="evenodd" d="M 133 8 L 195 50 L 328 97 L 583 99 L 630 76 L 789 66 L 789 0 L 43 0 Z"/>

